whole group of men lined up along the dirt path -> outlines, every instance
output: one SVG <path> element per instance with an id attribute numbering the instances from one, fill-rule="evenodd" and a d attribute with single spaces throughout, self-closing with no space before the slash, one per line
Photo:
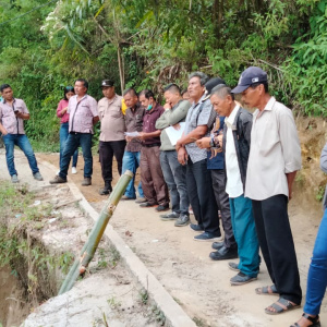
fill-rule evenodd
<path id="1" fill-rule="evenodd" d="M 71 156 L 81 146 L 85 160 L 83 185 L 92 184 L 92 136 L 100 120 L 99 158 L 105 182 L 100 194 L 112 191 L 113 156 L 120 174 L 129 169 L 135 175 L 140 167 L 140 197 L 136 199 L 133 178 L 124 201 L 136 199 L 141 207 L 166 211 L 170 195 L 171 211 L 160 217 L 174 220 L 177 227 L 191 222 L 191 205 L 196 220 L 190 225 L 196 232 L 194 240 L 213 242 L 210 258 L 239 257 L 238 264 L 228 263 L 238 271 L 231 284 L 257 278 L 261 247 L 272 284 L 256 289 L 256 293 L 280 296 L 265 312 L 278 314 L 300 305 L 300 276 L 287 205 L 301 168 L 301 148 L 292 112 L 269 95 L 266 72 L 256 66 L 246 69 L 234 89 L 220 77 L 208 80 L 204 73 L 192 73 L 190 98 L 183 99 L 179 86 L 169 84 L 164 94 L 165 107 L 152 90 L 137 94 L 129 88 L 123 93 L 125 112 L 112 81 L 102 81 L 104 98 L 99 102 L 87 95 L 85 80 L 77 80 L 74 88 L 68 109 L 70 134 L 60 172 L 50 183 L 66 182 Z M 0 128 L 14 138 L 23 133 L 15 129 L 21 126 L 20 119 L 27 119 L 28 111 L 22 106 L 17 114 L 15 104 L 22 100 L 10 99 L 5 89 L 1 87 L 5 100 L 0 105 Z M 237 94 L 247 108 L 256 109 L 253 114 L 235 101 Z M 7 116 L 13 130 L 8 129 Z M 5 137 L 13 177 L 13 158 Z M 33 173 L 38 179 L 38 170 Z"/>

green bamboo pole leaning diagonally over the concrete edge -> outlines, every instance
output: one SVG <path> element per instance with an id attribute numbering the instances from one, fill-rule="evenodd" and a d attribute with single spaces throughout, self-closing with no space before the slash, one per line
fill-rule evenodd
<path id="1" fill-rule="evenodd" d="M 125 173 L 120 177 L 117 185 L 114 186 L 99 215 L 99 219 L 92 229 L 87 242 L 84 244 L 81 251 L 81 257 L 76 258 L 74 264 L 72 265 L 69 274 L 64 279 L 64 282 L 60 288 L 59 294 L 63 294 L 71 290 L 78 276 L 85 272 L 104 235 L 106 227 L 132 178 L 133 172 L 130 170 L 126 170 Z"/>

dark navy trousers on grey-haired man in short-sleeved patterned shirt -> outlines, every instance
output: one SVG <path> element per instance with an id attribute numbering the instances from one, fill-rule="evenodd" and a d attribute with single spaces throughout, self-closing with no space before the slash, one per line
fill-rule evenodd
<path id="1" fill-rule="evenodd" d="M 206 232 L 220 234 L 218 207 L 213 190 L 211 173 L 207 169 L 207 159 L 186 165 L 186 187 L 189 199 L 198 225 Z"/>

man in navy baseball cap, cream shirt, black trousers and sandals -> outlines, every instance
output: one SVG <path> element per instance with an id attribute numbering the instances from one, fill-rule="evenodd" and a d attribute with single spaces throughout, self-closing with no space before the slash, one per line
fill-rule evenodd
<path id="1" fill-rule="evenodd" d="M 268 93 L 267 73 L 246 69 L 232 90 L 253 113 L 245 196 L 252 199 L 257 237 L 271 287 L 256 293 L 279 293 L 267 314 L 279 314 L 300 305 L 302 291 L 293 237 L 288 217 L 292 183 L 301 169 L 301 147 L 292 111 Z"/>

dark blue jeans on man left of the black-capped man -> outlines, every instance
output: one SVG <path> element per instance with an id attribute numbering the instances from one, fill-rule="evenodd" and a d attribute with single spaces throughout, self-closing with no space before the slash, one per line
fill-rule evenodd
<path id="1" fill-rule="evenodd" d="M 59 175 L 66 179 L 68 169 L 70 167 L 71 157 L 81 145 L 84 157 L 84 178 L 90 178 L 93 173 L 93 157 L 92 157 L 92 137 L 89 133 L 72 133 L 69 134 L 62 158 L 60 162 Z"/>

